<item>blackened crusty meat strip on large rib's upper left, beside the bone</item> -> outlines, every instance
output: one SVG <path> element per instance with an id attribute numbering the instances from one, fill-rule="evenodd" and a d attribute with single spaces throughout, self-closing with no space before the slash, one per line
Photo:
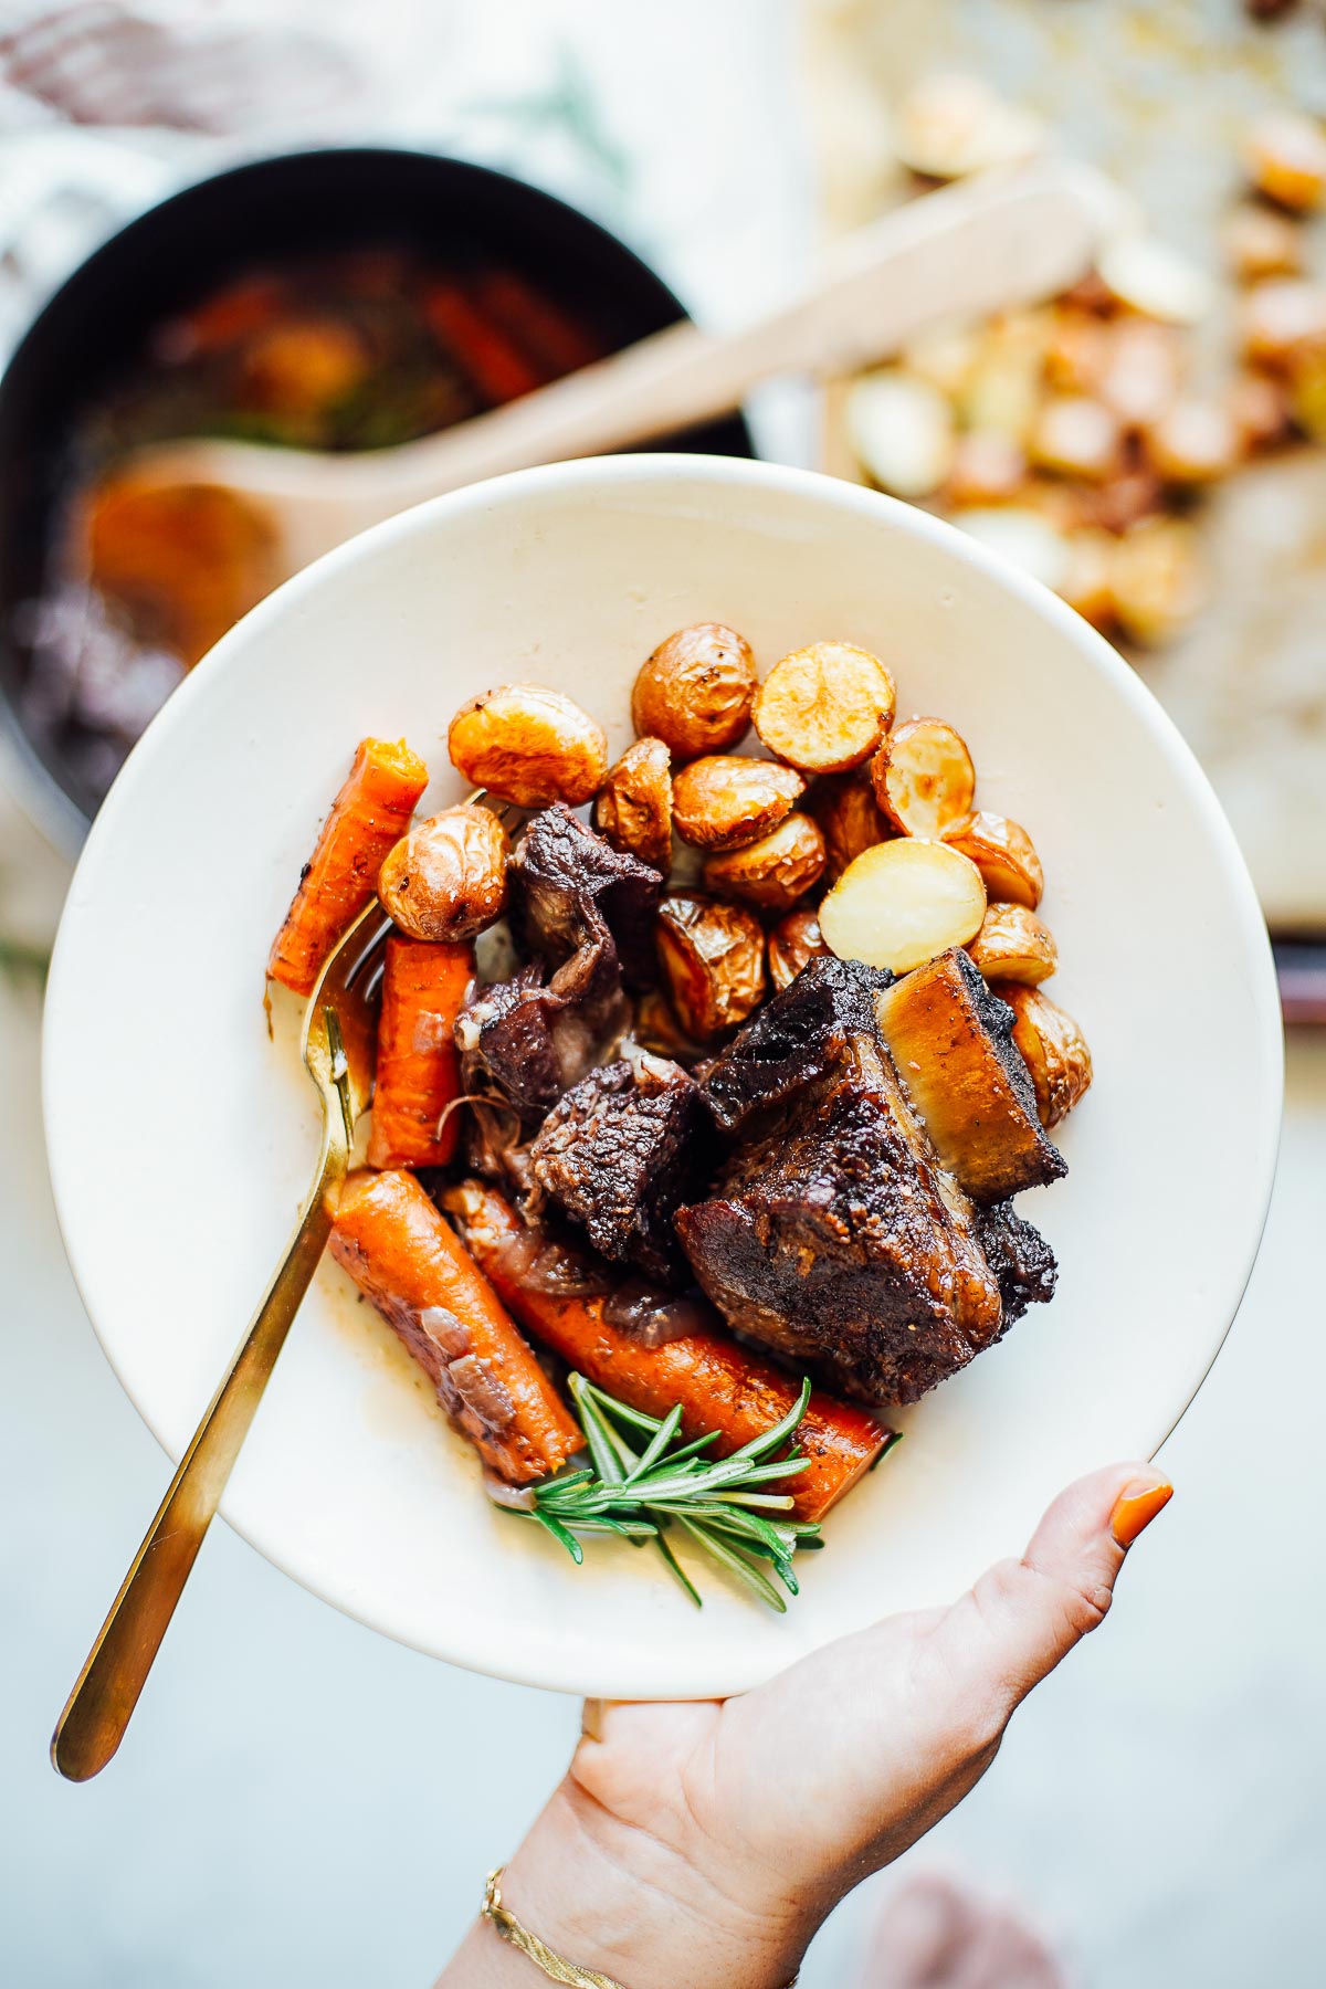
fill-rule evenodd
<path id="1" fill-rule="evenodd" d="M 833 955 L 807 961 L 710 1066 L 702 1092 L 716 1126 L 746 1132 L 823 1078 L 849 1034 L 875 1034 L 875 996 L 889 987 L 887 969 Z"/>

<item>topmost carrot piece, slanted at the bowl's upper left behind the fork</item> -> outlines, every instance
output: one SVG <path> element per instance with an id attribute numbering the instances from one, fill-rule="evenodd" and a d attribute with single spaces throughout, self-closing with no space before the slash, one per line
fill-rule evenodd
<path id="1" fill-rule="evenodd" d="M 300 873 L 266 971 L 296 994 L 312 994 L 336 941 L 378 889 L 378 871 L 410 827 L 427 788 L 427 768 L 404 740 L 360 740 L 350 778 L 332 802 Z"/>

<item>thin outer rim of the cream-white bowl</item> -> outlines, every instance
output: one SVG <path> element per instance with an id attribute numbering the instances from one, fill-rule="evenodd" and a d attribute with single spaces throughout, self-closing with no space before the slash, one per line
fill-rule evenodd
<path id="1" fill-rule="evenodd" d="M 1074 609 L 1070 609 L 1058 595 L 1054 595 L 1040 581 L 1012 567 L 1008 561 L 992 553 L 980 541 L 962 533 L 948 521 L 934 517 L 911 503 L 889 497 L 883 491 L 875 491 L 857 483 L 849 483 L 841 477 L 827 475 L 815 469 L 801 469 L 785 463 L 769 463 L 757 457 L 730 457 L 730 455 L 690 455 L 682 452 L 650 452 L 636 455 L 598 455 L 598 457 L 577 457 L 565 463 L 547 463 L 535 469 L 517 469 L 501 477 L 491 477 L 483 483 L 465 485 L 459 491 L 449 491 L 441 497 L 427 499 L 425 503 L 414 505 L 408 511 L 400 511 L 396 517 L 384 519 L 380 525 L 358 533 L 344 545 L 330 553 L 324 553 L 310 567 L 304 567 L 292 579 L 284 581 L 278 589 L 266 595 L 249 615 L 245 615 L 235 629 L 231 629 L 201 662 L 193 666 L 185 682 L 169 696 L 165 706 L 151 720 L 133 752 L 125 760 L 115 784 L 111 786 L 105 802 L 101 804 L 83 851 L 76 867 L 76 881 L 80 877 L 95 877 L 101 863 L 101 851 L 113 843 L 115 825 L 119 814 L 129 806 L 135 788 L 135 772 L 143 768 L 155 754 L 169 750 L 175 728 L 187 724 L 193 702 L 199 696 L 207 696 L 209 686 L 219 670 L 227 666 L 231 650 L 243 646 L 254 629 L 262 629 L 268 621 L 274 621 L 296 607 L 304 597 L 314 595 L 326 579 L 342 573 L 344 569 L 356 567 L 360 561 L 372 561 L 380 547 L 398 541 L 408 541 L 412 537 L 427 539 L 437 529 L 453 517 L 467 515 L 471 511 L 481 511 L 485 507 L 501 509 L 507 503 L 519 503 L 525 497 L 547 493 L 557 495 L 563 491 L 577 489 L 598 489 L 612 493 L 618 487 L 650 487 L 666 485 L 676 479 L 706 481 L 728 487 L 763 487 L 771 491 L 783 491 L 791 497 L 809 499 L 821 507 L 839 507 L 847 513 L 889 517 L 891 529 L 912 535 L 918 541 L 930 541 L 950 553 L 958 563 L 968 565 L 996 587 L 1018 597 L 1028 609 L 1032 609 L 1042 621 L 1048 621 L 1058 634 L 1076 646 L 1083 658 L 1111 684 L 1117 696 L 1129 704 L 1141 722 L 1141 726 L 1151 732 L 1155 742 L 1163 748 L 1165 758 L 1179 786 L 1185 792 L 1187 802 L 1201 817 L 1203 829 L 1209 833 L 1215 849 L 1221 855 L 1223 869 L 1227 873 L 1227 883 L 1237 905 L 1239 929 L 1233 935 L 1235 957 L 1243 959 L 1252 975 L 1252 994 L 1258 1012 L 1258 1032 L 1260 1042 L 1256 1052 L 1260 1056 L 1266 1076 L 1272 1080 L 1264 1088 L 1260 1098 L 1260 1120 L 1252 1128 L 1252 1138 L 1244 1146 L 1244 1160 L 1248 1162 L 1248 1181 L 1258 1185 L 1256 1219 L 1248 1229 L 1248 1247 L 1244 1251 L 1244 1263 L 1241 1277 L 1237 1281 L 1237 1291 L 1231 1289 L 1227 1301 L 1227 1319 L 1221 1327 L 1219 1339 L 1213 1343 L 1211 1358 L 1193 1382 L 1191 1392 L 1181 1402 L 1179 1410 L 1169 1418 L 1163 1428 L 1157 1428 L 1153 1442 L 1147 1448 L 1147 1456 L 1155 1456 L 1161 1446 L 1175 1432 L 1193 1400 L 1201 1392 L 1219 1353 L 1229 1339 L 1231 1327 L 1243 1305 L 1243 1295 L 1246 1291 L 1248 1279 L 1252 1275 L 1252 1265 L 1256 1261 L 1260 1239 L 1266 1227 L 1266 1215 L 1270 1207 L 1270 1191 L 1274 1183 L 1276 1154 L 1280 1144 L 1280 1122 L 1282 1122 L 1282 1092 L 1284 1092 L 1284 1028 L 1280 1018 L 1278 985 L 1274 971 L 1274 957 L 1270 951 L 1270 939 L 1266 933 L 1266 921 L 1256 899 L 1256 889 L 1248 873 L 1246 861 L 1235 831 L 1215 796 L 1215 790 L 1203 772 L 1193 748 L 1187 744 L 1171 716 L 1159 704 L 1155 694 L 1147 690 L 1139 674 L 1129 662 L 1105 640 L 1099 631 L 1085 623 Z M 70 889 L 70 901 L 76 901 L 78 893 Z M 58 1016 L 66 1000 L 74 994 L 66 994 L 66 975 L 64 975 L 64 955 L 72 951 L 72 943 L 66 939 L 72 921 L 62 917 L 60 931 L 56 935 L 56 945 L 52 949 L 48 985 L 46 985 L 46 1004 L 42 1022 L 42 1118 L 46 1126 L 46 1148 L 48 1148 L 48 1170 L 52 1181 L 52 1195 L 56 1203 L 56 1219 L 60 1225 L 60 1235 L 66 1247 L 74 1283 L 83 1301 L 83 1309 L 89 1317 L 93 1333 L 101 1345 L 101 1351 L 119 1380 L 121 1388 L 137 1408 L 139 1416 L 161 1444 L 171 1464 L 179 1462 L 183 1450 L 167 1440 L 165 1432 L 157 1428 L 155 1420 L 145 1412 L 133 1388 L 129 1386 L 115 1353 L 107 1347 L 97 1325 L 95 1311 L 95 1265 L 87 1263 L 80 1253 L 76 1241 L 70 1235 L 70 1225 L 66 1223 L 66 1170 L 62 1160 L 62 1150 L 52 1142 L 52 1126 L 58 1124 L 56 1092 L 58 1092 L 58 1072 L 54 1068 L 52 1042 L 58 1034 Z M 219 1376 L 221 1378 L 221 1376 Z M 368 1629 L 382 1629 L 374 1619 L 372 1611 L 356 1607 L 354 1599 L 344 1593 L 336 1593 L 332 1581 L 314 1581 L 304 1575 L 298 1567 L 290 1567 L 278 1553 L 270 1547 L 260 1545 L 252 1536 L 235 1526 L 229 1520 L 227 1504 L 221 1504 L 221 1518 L 227 1520 L 235 1532 L 241 1534 L 250 1545 L 256 1547 L 264 1559 L 280 1567 L 282 1573 L 290 1575 L 300 1587 L 318 1595 L 322 1601 L 350 1615 L 354 1621 L 364 1623 Z M 388 1631 L 388 1635 L 398 1635 Z M 412 1641 L 412 1639 L 400 1639 Z M 414 1643 L 429 1657 L 443 1657 L 447 1663 L 457 1663 L 467 1669 L 483 1671 L 487 1677 L 505 1679 L 513 1685 L 533 1685 L 547 1691 L 563 1693 L 582 1693 L 584 1681 L 575 1677 L 569 1669 L 557 1671 L 555 1665 L 547 1663 L 547 1657 L 537 1665 L 521 1665 L 519 1661 L 493 1657 L 491 1645 L 483 1647 L 483 1655 L 475 1649 L 461 1649 L 463 1639 L 457 1637 L 453 1651 L 439 1651 L 435 1645 Z M 684 1671 L 678 1665 L 678 1671 Z M 736 1683 L 732 1691 L 744 1691 L 746 1683 Z M 712 1697 L 712 1691 L 700 1687 L 682 1685 L 680 1691 L 668 1697 Z"/>

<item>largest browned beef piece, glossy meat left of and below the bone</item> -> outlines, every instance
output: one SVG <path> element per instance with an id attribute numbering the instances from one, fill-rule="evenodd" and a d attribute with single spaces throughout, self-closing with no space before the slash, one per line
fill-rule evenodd
<path id="1" fill-rule="evenodd" d="M 825 983 L 829 1068 L 785 1092 L 676 1227 L 732 1327 L 839 1390 L 912 1402 L 998 1339 L 1000 1291 L 879 1038 L 873 971 L 811 961 L 765 1014 L 807 996 L 823 1012 Z"/>

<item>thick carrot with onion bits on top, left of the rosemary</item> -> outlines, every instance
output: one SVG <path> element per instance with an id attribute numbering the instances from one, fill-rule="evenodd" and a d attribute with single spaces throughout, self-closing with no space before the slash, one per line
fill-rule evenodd
<path id="1" fill-rule="evenodd" d="M 332 1257 L 402 1337 L 499 1478 L 533 1484 L 582 1448 L 529 1343 L 412 1174 L 350 1175 Z"/>

